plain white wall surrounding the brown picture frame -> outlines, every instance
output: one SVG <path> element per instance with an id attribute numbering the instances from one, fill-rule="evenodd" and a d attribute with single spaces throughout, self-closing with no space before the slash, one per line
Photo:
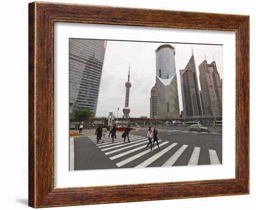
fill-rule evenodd
<path id="1" fill-rule="evenodd" d="M 142 7 L 155 9 L 170 9 L 183 11 L 198 11 L 212 13 L 232 13 L 250 15 L 250 78 L 255 78 L 256 57 L 256 14 L 254 1 L 251 0 L 215 0 L 208 3 L 205 0 L 54 0 L 63 3 L 95 4 L 120 7 Z M 27 207 L 27 3 L 28 0 L 12 0 L 1 2 L 1 44 L 0 44 L 0 90 L 1 90 L 1 174 L 0 193 L 1 209 L 28 209 Z M 253 91 L 256 83 L 250 85 L 250 107 L 256 106 Z M 250 127 L 253 128 L 255 109 L 251 109 Z M 253 116 L 252 116 L 253 115 Z M 11 129 L 11 126 L 15 129 Z M 256 199 L 255 182 L 255 129 L 250 133 L 250 195 L 191 198 L 179 200 L 165 200 L 153 202 L 115 203 L 104 205 L 61 207 L 61 209 L 87 209 L 87 210 L 128 210 L 128 209 L 190 209 L 190 210 L 216 210 L 229 208 L 232 210 L 254 209 L 253 201 Z M 15 187 L 15 190 L 14 190 Z M 154 195 L 152 195 L 154 196 Z M 59 208 L 54 208 L 59 209 Z"/>

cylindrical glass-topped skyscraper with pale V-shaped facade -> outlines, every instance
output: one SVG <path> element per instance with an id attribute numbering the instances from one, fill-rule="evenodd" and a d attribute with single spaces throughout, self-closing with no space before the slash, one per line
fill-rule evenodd
<path id="1" fill-rule="evenodd" d="M 156 51 L 156 116 L 178 118 L 180 116 L 175 48 L 161 45 Z"/>

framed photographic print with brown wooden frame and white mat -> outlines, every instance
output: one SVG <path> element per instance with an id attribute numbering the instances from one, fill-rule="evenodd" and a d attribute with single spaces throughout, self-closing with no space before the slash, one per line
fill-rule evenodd
<path id="1" fill-rule="evenodd" d="M 248 193 L 249 16 L 29 4 L 29 206 Z"/>

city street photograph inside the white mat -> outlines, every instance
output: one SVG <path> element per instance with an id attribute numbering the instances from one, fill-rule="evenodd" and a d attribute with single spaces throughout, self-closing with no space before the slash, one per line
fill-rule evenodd
<path id="1" fill-rule="evenodd" d="M 69 171 L 222 164 L 221 44 L 69 38 L 68 58 Z"/>

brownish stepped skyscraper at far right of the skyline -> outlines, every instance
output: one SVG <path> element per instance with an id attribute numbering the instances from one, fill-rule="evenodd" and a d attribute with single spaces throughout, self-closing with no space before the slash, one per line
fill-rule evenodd
<path id="1" fill-rule="evenodd" d="M 204 115 L 222 115 L 222 83 L 215 61 L 199 65 Z"/>

